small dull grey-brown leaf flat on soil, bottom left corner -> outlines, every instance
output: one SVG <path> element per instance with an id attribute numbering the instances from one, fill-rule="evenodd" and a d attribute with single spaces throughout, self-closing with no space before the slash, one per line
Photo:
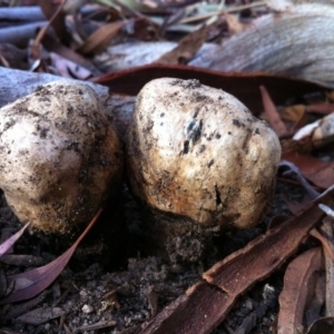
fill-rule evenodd
<path id="1" fill-rule="evenodd" d="M 41 325 L 63 314 L 60 307 L 39 307 L 17 317 L 16 321 L 29 325 Z"/>

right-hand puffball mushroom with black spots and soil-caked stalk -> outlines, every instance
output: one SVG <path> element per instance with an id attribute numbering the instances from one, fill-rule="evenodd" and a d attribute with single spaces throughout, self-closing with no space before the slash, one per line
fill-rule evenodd
<path id="1" fill-rule="evenodd" d="M 128 129 L 127 165 L 153 217 L 151 246 L 197 261 L 223 228 L 258 224 L 279 158 L 275 132 L 232 95 L 198 80 L 148 82 Z"/>

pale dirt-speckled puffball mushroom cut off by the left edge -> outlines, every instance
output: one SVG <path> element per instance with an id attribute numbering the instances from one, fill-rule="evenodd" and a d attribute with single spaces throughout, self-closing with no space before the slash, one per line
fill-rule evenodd
<path id="1" fill-rule="evenodd" d="M 121 143 L 87 85 L 55 81 L 0 110 L 0 188 L 46 233 L 87 224 L 120 185 Z"/>

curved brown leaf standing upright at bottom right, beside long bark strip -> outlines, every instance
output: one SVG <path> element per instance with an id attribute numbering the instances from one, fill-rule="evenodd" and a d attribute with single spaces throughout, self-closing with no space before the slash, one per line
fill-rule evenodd
<path id="1" fill-rule="evenodd" d="M 289 263 L 284 275 L 284 287 L 279 295 L 277 334 L 303 332 L 303 316 L 312 274 L 320 271 L 321 247 L 306 250 Z"/>

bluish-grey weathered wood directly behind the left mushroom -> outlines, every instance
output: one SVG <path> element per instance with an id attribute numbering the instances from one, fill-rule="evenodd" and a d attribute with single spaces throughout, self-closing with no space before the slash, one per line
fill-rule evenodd
<path id="1" fill-rule="evenodd" d="M 38 86 L 60 79 L 72 81 L 72 79 L 48 73 L 31 73 L 0 67 L 0 107 L 31 94 Z M 80 82 L 89 85 L 97 92 L 99 99 L 105 105 L 106 114 L 122 137 L 134 112 L 135 98 L 117 95 L 110 96 L 108 88 L 105 86 L 90 81 Z"/>

